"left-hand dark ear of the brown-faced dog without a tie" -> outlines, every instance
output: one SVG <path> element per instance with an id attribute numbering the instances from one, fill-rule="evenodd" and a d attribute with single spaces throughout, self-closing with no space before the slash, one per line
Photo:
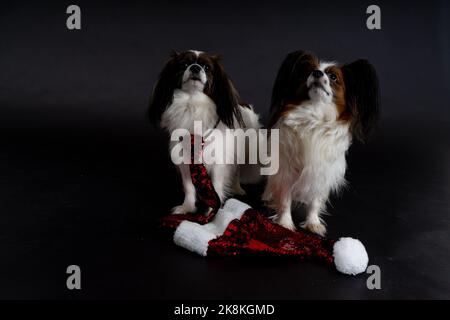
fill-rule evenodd
<path id="1" fill-rule="evenodd" d="M 306 85 L 308 76 L 317 65 L 317 58 L 303 50 L 291 52 L 286 56 L 272 89 L 269 127 L 276 123 L 286 102 L 300 98 L 298 94 L 301 86 Z"/>

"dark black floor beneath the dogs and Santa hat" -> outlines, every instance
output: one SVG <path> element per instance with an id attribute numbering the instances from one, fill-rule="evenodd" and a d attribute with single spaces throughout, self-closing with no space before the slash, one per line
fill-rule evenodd
<path id="1" fill-rule="evenodd" d="M 399 129 L 401 127 L 401 129 Z M 20 133 L 22 132 L 22 133 Z M 73 131 L 76 132 L 76 131 Z M 0 298 L 450 298 L 450 128 L 384 119 L 349 154 L 329 236 L 353 236 L 367 274 L 280 259 L 204 259 L 155 228 L 182 199 L 165 137 L 70 129 L 3 132 Z M 255 202 L 258 188 L 252 188 Z M 66 267 L 82 290 L 66 289 Z"/>

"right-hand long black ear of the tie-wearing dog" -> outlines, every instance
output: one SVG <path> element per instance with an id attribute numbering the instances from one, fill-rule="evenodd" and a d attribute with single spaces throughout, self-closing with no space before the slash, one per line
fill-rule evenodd
<path id="1" fill-rule="evenodd" d="M 213 56 L 213 77 L 210 84 L 210 97 L 217 107 L 217 115 L 228 128 L 234 128 L 234 117 L 244 126 L 239 109 L 239 94 L 226 74 L 220 56 Z"/>

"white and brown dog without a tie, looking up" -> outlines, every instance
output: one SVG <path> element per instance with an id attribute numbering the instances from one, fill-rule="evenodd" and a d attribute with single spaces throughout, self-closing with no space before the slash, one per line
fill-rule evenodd
<path id="1" fill-rule="evenodd" d="M 366 60 L 339 66 L 304 51 L 290 53 L 274 84 L 269 127 L 279 129 L 280 164 L 263 200 L 276 221 L 295 229 L 292 203 L 306 206 L 303 227 L 324 235 L 330 192 L 345 184 L 346 152 L 364 140 L 378 114 L 379 86 Z"/>

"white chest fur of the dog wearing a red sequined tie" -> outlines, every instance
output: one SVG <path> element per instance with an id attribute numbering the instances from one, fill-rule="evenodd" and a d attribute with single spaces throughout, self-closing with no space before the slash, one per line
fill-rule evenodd
<path id="1" fill-rule="evenodd" d="M 194 121 L 201 121 L 204 130 L 212 128 L 217 121 L 214 101 L 200 91 L 175 90 L 172 104 L 161 117 L 161 127 L 169 132 L 187 129 L 192 133 Z"/>

